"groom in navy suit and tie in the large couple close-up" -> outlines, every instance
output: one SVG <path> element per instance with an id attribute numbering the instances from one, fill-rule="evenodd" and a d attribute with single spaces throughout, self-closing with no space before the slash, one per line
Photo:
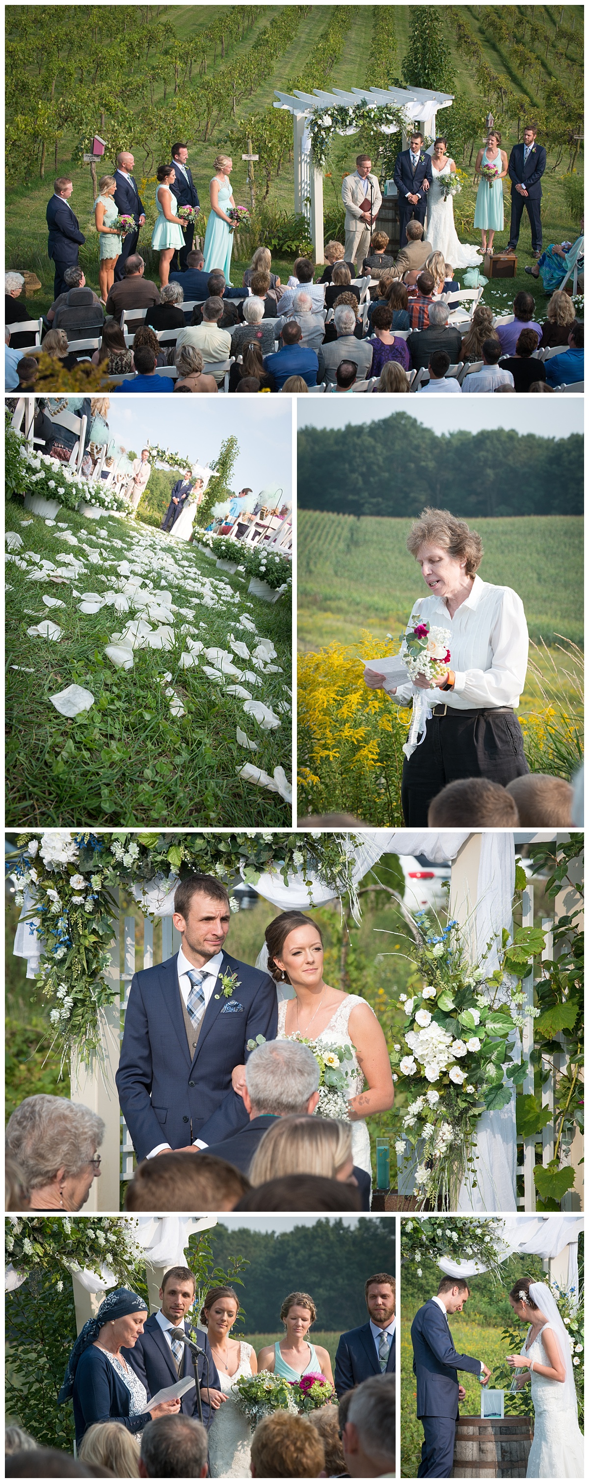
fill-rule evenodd
<path id="1" fill-rule="evenodd" d="M 223 952 L 229 919 L 226 887 L 191 875 L 175 894 L 179 952 L 133 977 L 117 1089 L 138 1160 L 222 1142 L 247 1123 L 231 1072 L 256 1035 L 275 1040 L 278 1003 L 268 973 Z"/>

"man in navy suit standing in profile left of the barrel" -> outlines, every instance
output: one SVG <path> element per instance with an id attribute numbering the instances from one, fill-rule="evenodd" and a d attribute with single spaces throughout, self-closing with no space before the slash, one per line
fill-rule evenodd
<path id="1" fill-rule="evenodd" d="M 457 1370 L 478 1375 L 487 1385 L 491 1372 L 482 1360 L 457 1354 L 448 1312 L 462 1312 L 469 1296 L 463 1277 L 442 1277 L 437 1298 L 419 1308 L 411 1323 L 413 1373 L 417 1376 L 417 1419 L 423 1427 L 419 1479 L 450 1479 L 454 1462 L 454 1433 L 459 1401 L 465 1390 Z"/>

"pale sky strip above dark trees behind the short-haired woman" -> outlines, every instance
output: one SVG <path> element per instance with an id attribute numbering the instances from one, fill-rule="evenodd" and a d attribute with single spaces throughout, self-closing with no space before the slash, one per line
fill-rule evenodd
<path id="1" fill-rule="evenodd" d="M 570 433 L 583 432 L 583 397 L 558 396 L 555 402 L 545 396 L 497 396 L 490 399 L 481 396 L 416 396 L 395 397 L 394 405 L 389 396 L 308 396 L 297 397 L 299 427 L 345 427 L 346 423 L 360 426 L 373 423 L 391 412 L 408 412 L 419 423 L 431 427 L 434 433 L 468 432 L 477 433 L 481 427 L 514 427 L 518 433 L 537 433 L 542 437 L 568 437 Z M 499 403 L 499 406 L 497 406 Z"/>

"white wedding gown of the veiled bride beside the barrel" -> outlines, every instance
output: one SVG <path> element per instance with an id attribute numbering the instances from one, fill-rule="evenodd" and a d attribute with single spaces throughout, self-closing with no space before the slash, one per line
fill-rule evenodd
<path id="1" fill-rule="evenodd" d="M 549 1327 L 551 1324 L 545 1323 L 530 1348 L 524 1345 L 521 1351 L 530 1354 L 539 1364 L 551 1364 L 542 1344 L 542 1335 Z M 534 1403 L 534 1440 L 525 1477 L 585 1477 L 585 1446 L 579 1430 L 577 1407 L 562 1407 L 562 1385 L 558 1381 L 549 1381 L 546 1375 L 536 1375 L 536 1370 L 531 1372 L 530 1379 Z"/>

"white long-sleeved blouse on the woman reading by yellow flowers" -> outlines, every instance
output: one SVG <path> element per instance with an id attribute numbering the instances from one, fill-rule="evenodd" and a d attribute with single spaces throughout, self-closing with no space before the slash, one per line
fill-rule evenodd
<path id="1" fill-rule="evenodd" d="M 407 627 L 417 618 L 431 626 L 450 629 L 450 663 L 456 681 L 453 690 L 426 691 L 432 706 L 447 704 L 451 710 L 519 706 L 528 663 L 528 629 L 524 604 L 512 587 L 496 587 L 475 577 L 472 592 L 456 610 L 454 617 L 442 598 L 422 598 L 413 604 Z M 411 685 L 400 685 L 395 700 L 407 701 Z"/>

